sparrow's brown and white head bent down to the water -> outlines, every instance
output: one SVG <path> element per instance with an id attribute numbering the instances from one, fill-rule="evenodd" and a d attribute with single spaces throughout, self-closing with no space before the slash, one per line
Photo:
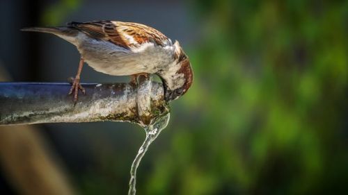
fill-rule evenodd
<path id="1" fill-rule="evenodd" d="M 193 71 L 189 57 L 184 53 L 179 42 L 175 41 L 174 62 L 168 70 L 162 71 L 159 76 L 164 83 L 166 101 L 178 99 L 184 95 L 192 85 Z"/>

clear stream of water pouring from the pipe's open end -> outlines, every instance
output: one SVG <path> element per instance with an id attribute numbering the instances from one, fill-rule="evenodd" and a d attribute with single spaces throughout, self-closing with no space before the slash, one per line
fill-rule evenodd
<path id="1" fill-rule="evenodd" d="M 146 151 L 148 151 L 150 144 L 157 138 L 159 133 L 161 133 L 161 130 L 166 128 L 166 126 L 168 125 L 169 118 L 170 114 L 168 112 L 166 115 L 163 115 L 155 121 L 152 121 L 150 125 L 144 128 L 146 137 L 132 163 L 128 195 L 136 194 L 136 169 L 138 169 L 139 163 L 141 162 L 141 159 L 145 155 Z"/>

